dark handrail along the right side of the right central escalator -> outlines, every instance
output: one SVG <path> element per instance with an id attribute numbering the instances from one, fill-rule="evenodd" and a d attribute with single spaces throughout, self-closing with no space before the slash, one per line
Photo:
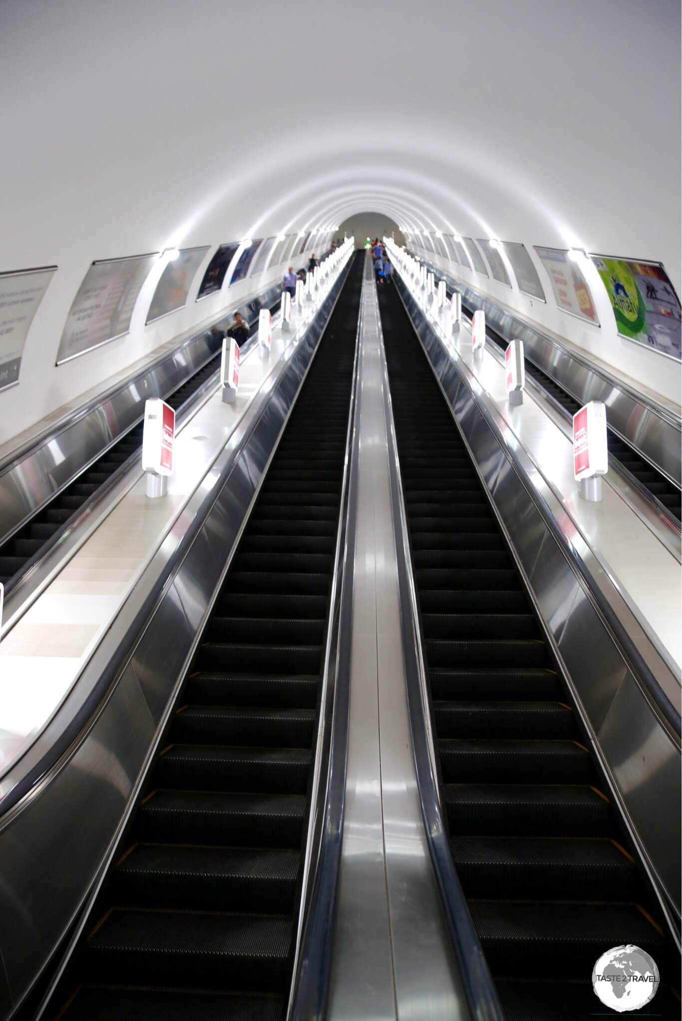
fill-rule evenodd
<path id="1" fill-rule="evenodd" d="M 400 282 L 402 287 L 404 287 L 405 286 L 404 282 L 402 282 L 402 280 Z M 400 299 L 403 301 L 404 304 L 404 299 L 400 291 L 400 288 L 398 288 L 398 294 L 400 295 Z M 407 314 L 409 315 L 409 312 L 407 312 Z M 429 324 L 429 328 L 432 329 L 431 324 Z M 419 332 L 418 331 L 416 332 L 418 333 L 419 337 Z M 421 338 L 420 338 L 420 343 L 422 343 Z M 456 358 L 456 364 L 458 367 L 465 385 L 472 394 L 472 399 L 476 402 L 477 406 L 479 407 L 481 416 L 488 425 L 488 428 L 490 429 L 492 435 L 497 438 L 502 449 L 505 451 L 506 456 L 509 458 L 515 471 L 520 476 L 525 488 L 530 494 L 531 499 L 538 507 L 538 510 L 540 512 L 547 528 L 549 529 L 551 535 L 556 541 L 559 549 L 563 550 L 565 556 L 571 564 L 573 570 L 581 579 L 582 585 L 586 593 L 589 595 L 589 598 L 592 600 L 592 602 L 596 605 L 606 626 L 614 635 L 616 643 L 620 647 L 626 663 L 630 665 L 630 669 L 632 671 L 633 676 L 636 678 L 640 686 L 648 693 L 649 697 L 657 708 L 659 712 L 665 718 L 669 727 L 673 729 L 673 731 L 675 732 L 675 734 L 679 739 L 680 736 L 682 736 L 682 720 L 680 719 L 679 711 L 673 704 L 667 693 L 662 688 L 661 684 L 659 683 L 659 680 L 656 679 L 655 675 L 653 674 L 650 667 L 646 663 L 644 657 L 641 654 L 636 644 L 630 637 L 628 630 L 623 625 L 623 622 L 620 620 L 618 614 L 611 605 L 608 599 L 603 594 L 600 587 L 598 585 L 595 585 L 594 579 L 592 578 L 592 575 L 588 567 L 583 562 L 583 558 L 578 553 L 578 550 L 575 548 L 574 544 L 568 539 L 568 537 L 564 533 L 562 526 L 556 520 L 546 499 L 534 485 L 532 478 L 530 477 L 526 467 L 522 463 L 522 458 L 505 442 L 504 437 L 500 432 L 499 426 L 495 422 L 489 407 L 487 406 L 486 401 L 479 399 L 476 393 L 474 393 L 471 390 L 471 387 L 467 379 L 469 370 L 464 364 L 461 359 L 458 357 Z M 652 646 L 656 649 L 656 654 L 659 654 L 662 658 L 667 668 L 671 670 L 671 673 L 674 673 L 663 650 L 661 650 L 657 647 L 657 645 L 652 641 L 651 638 L 649 638 L 649 641 L 651 641 Z"/>

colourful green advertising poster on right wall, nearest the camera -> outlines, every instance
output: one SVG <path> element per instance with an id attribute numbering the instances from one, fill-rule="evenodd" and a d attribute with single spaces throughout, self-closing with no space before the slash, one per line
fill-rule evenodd
<path id="1" fill-rule="evenodd" d="M 606 288 L 621 336 L 682 359 L 682 308 L 663 265 L 601 255 L 590 258 Z"/>

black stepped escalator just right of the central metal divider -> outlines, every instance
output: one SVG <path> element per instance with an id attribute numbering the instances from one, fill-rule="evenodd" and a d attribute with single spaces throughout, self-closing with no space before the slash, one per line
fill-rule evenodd
<path id="1" fill-rule="evenodd" d="M 441 803 L 507 1021 L 616 1016 L 591 975 L 623 943 L 659 965 L 652 1016 L 679 1017 L 679 959 L 570 690 L 400 298 L 378 290 Z"/>

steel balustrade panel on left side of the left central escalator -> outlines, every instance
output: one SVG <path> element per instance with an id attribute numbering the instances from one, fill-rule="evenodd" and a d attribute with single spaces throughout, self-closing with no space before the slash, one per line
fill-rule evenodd
<path id="1" fill-rule="evenodd" d="M 47 735 L 49 747 L 69 720 L 78 719 L 132 629 L 136 643 L 94 716 L 62 760 L 0 818 L 0 1004 L 7 1000 L 13 1009 L 20 1004 L 94 898 L 346 273 L 292 356 L 282 359 L 270 393 L 241 420 L 207 484 L 198 487 L 184 512 L 184 524 L 175 526 L 187 527 L 196 517 L 197 535 L 188 548 L 181 543 L 176 560 L 159 550 L 42 737 Z M 164 557 L 169 557 L 165 568 Z M 162 594 L 152 615 L 142 617 L 150 576 L 164 570 Z M 19 767 L 26 768 L 23 760 L 5 789 L 20 779 Z M 85 920 L 84 914 L 69 945 Z"/>

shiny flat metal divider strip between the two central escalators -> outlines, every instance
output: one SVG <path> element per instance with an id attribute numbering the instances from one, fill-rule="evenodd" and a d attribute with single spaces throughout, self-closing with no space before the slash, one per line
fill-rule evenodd
<path id="1" fill-rule="evenodd" d="M 417 792 L 372 263 L 358 380 L 357 539 L 350 732 L 330 1019 L 468 1018 Z"/>

